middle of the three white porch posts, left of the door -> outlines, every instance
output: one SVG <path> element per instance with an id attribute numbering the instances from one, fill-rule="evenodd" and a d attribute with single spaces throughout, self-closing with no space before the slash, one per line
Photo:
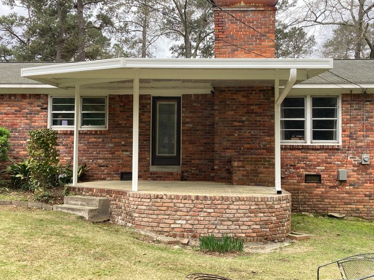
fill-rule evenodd
<path id="1" fill-rule="evenodd" d="M 133 83 L 133 191 L 137 191 L 139 163 L 139 76 Z"/>

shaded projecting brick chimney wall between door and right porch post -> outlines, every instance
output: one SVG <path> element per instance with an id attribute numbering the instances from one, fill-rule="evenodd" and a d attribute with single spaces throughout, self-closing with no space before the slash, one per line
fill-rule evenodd
<path id="1" fill-rule="evenodd" d="M 214 97 L 215 182 L 272 186 L 274 89 L 216 88 Z"/>

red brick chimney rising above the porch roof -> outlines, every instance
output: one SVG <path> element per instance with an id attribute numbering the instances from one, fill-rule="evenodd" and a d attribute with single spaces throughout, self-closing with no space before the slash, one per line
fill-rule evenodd
<path id="1" fill-rule="evenodd" d="M 275 40 L 278 0 L 214 0 L 222 10 Z M 274 58 L 275 43 L 219 8 L 214 8 L 216 58 Z M 235 45 L 235 46 L 234 46 Z M 236 47 L 239 46 L 239 47 Z M 244 50 L 248 49 L 252 52 Z M 260 55 L 257 55 L 257 54 Z"/>

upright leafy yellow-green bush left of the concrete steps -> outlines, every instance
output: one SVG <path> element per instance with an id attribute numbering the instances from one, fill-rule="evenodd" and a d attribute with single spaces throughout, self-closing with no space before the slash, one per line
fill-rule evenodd
<path id="1" fill-rule="evenodd" d="M 57 146 L 57 132 L 51 129 L 38 129 L 29 132 L 27 151 L 31 177 L 47 192 L 47 187 L 57 174 L 59 153 Z"/>

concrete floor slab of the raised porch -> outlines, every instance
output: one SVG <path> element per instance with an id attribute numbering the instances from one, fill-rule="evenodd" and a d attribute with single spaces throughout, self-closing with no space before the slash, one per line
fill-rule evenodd
<path id="1" fill-rule="evenodd" d="M 92 181 L 76 187 L 93 187 L 131 191 L 132 181 Z M 194 181 L 138 181 L 139 193 L 187 194 L 210 196 L 274 196 L 274 187 L 234 186 L 225 183 Z M 285 193 L 285 191 L 283 191 Z M 287 193 L 287 192 L 286 192 Z"/>

